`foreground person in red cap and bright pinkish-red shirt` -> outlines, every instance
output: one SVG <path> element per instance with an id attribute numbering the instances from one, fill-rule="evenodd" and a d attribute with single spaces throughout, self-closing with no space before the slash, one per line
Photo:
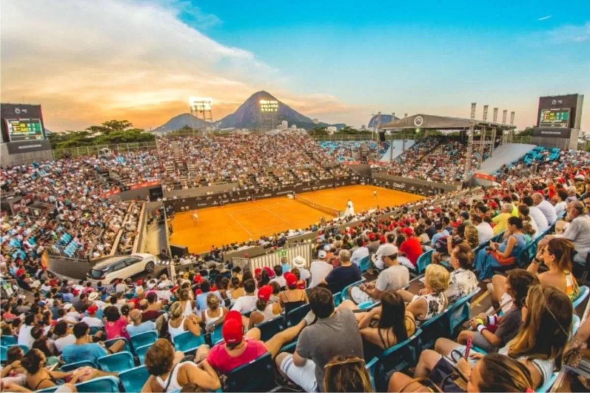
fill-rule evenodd
<path id="1" fill-rule="evenodd" d="M 313 316 L 313 314 L 312 314 Z M 278 351 L 292 341 L 307 325 L 306 316 L 296 326 L 285 329 L 274 335 L 266 342 L 260 341 L 260 329 L 253 328 L 244 334 L 242 315 L 238 311 L 230 311 L 225 315 L 225 322 L 221 328 L 224 341 L 211 348 L 207 361 L 222 374 L 228 374 L 241 365 L 248 364 L 254 359 L 270 352 L 274 359 Z M 252 376 L 255 378 L 255 376 Z"/>

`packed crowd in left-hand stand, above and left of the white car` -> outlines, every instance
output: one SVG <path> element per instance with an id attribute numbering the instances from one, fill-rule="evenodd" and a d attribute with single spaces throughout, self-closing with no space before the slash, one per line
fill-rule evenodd
<path id="1" fill-rule="evenodd" d="M 140 203 L 116 203 L 102 194 L 109 188 L 83 160 L 58 160 L 0 171 L 4 193 L 28 202 L 2 212 L 2 258 L 38 260 L 45 249 L 64 256 L 97 258 L 113 247 L 130 252 Z M 31 204 L 33 203 L 33 204 Z M 123 230 L 122 240 L 115 244 Z"/>

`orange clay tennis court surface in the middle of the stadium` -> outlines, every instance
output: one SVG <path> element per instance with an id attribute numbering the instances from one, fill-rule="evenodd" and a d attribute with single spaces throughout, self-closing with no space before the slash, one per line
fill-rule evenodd
<path id="1" fill-rule="evenodd" d="M 373 190 L 377 190 L 376 198 L 373 197 Z M 299 196 L 342 211 L 346 210 L 350 199 L 355 212 L 424 199 L 419 195 L 373 186 L 339 187 L 301 193 Z M 322 217 L 328 220 L 334 218 L 287 196 L 208 207 L 199 209 L 198 215 L 198 221 L 194 221 L 192 212 L 176 213 L 170 242 L 187 246 L 189 252 L 207 252 L 212 245 L 256 240 L 284 230 L 307 227 L 319 222 Z"/>

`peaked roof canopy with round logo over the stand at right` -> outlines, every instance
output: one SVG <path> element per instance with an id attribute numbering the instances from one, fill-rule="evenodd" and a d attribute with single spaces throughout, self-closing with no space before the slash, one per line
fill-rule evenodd
<path id="1" fill-rule="evenodd" d="M 501 130 L 514 130 L 516 126 L 513 124 L 492 123 L 491 121 L 483 121 L 470 118 L 448 117 L 437 115 L 416 114 L 402 118 L 400 120 L 392 121 L 391 123 L 382 124 L 383 129 L 415 129 L 422 128 L 428 130 L 468 130 L 473 126 L 474 128 L 496 128 Z"/>

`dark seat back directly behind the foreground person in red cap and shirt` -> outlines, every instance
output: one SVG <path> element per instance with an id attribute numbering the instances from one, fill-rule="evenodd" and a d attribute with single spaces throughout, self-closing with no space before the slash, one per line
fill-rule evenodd
<path id="1" fill-rule="evenodd" d="M 227 375 L 229 392 L 267 392 L 276 387 L 270 352 L 235 368 Z"/>

